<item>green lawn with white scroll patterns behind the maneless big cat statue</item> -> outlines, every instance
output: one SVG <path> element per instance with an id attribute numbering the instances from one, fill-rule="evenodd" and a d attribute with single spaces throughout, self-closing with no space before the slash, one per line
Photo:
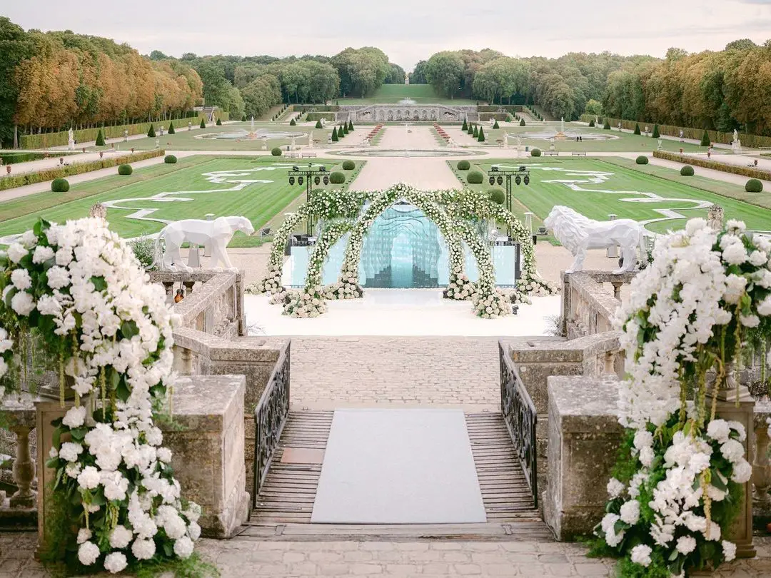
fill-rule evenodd
<path id="1" fill-rule="evenodd" d="M 119 207 L 126 208 L 109 207 L 107 215 L 110 226 L 123 237 L 153 234 L 164 226 L 156 221 L 127 218 L 137 210 L 153 210 L 146 217 L 164 220 L 203 219 L 207 213 L 214 213 L 218 217 L 243 215 L 251 220 L 255 230 L 259 230 L 305 193 L 305 186 L 300 187 L 296 183 L 292 186 L 287 180 L 289 168 L 300 162 L 274 157 L 198 156 L 177 165 L 135 170 L 130 176 L 115 175 L 77 184 L 66 195 L 39 193 L 0 204 L 0 214 L 5 216 L 8 208 L 12 210 L 8 214 L 14 215 L 14 218 L 0 223 L 0 237 L 30 229 L 37 217 L 63 222 L 85 217 L 94 203 L 118 200 L 122 200 L 118 203 Z M 362 165 L 357 162 L 355 170 L 343 171 L 341 159 L 315 160 L 315 163 L 325 163 L 330 170 L 340 170 L 346 173 L 348 179 Z M 180 168 L 168 168 L 174 166 Z M 204 173 L 209 173 L 208 178 Z M 269 182 L 244 183 L 244 180 Z M 158 197 L 160 193 L 166 194 Z M 67 200 L 52 204 L 52 201 L 57 200 L 54 195 L 60 201 L 62 197 Z M 259 244 L 258 237 L 237 234 L 231 246 L 254 244 Z"/>

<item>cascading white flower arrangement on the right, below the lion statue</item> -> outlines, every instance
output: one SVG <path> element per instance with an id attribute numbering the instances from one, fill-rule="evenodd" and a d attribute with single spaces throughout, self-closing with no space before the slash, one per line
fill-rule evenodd
<path id="1" fill-rule="evenodd" d="M 736 556 L 726 530 L 752 466 L 745 428 L 716 415 L 716 393 L 732 383 L 742 341 L 771 334 L 771 242 L 743 231 L 694 219 L 659 237 L 619 311 L 628 433 L 595 553 L 620 557 L 622 576 L 678 576 Z"/>

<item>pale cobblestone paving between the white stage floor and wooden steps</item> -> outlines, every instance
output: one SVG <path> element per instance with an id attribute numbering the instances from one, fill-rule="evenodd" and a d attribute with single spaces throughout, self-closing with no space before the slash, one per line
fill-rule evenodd
<path id="1" fill-rule="evenodd" d="M 293 409 L 500 406 L 497 338 L 295 337 Z"/>

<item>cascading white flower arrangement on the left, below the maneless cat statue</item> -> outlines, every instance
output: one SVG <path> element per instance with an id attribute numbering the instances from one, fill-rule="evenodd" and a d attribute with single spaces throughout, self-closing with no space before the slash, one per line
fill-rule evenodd
<path id="1" fill-rule="evenodd" d="M 62 408 L 66 388 L 75 395 L 53 422 L 46 463 L 72 533 L 52 536 L 50 546 L 79 571 L 190 557 L 200 508 L 181 499 L 171 452 L 153 424 L 173 384 L 173 316 L 163 287 L 92 218 L 39 220 L 0 253 L 0 292 L 0 385 L 19 385 L 29 352 L 13 344 L 33 332 L 57 359 Z"/>

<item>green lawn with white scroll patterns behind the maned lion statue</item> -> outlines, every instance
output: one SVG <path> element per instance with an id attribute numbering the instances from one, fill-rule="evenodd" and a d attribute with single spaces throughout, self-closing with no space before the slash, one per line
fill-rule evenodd
<path id="1" fill-rule="evenodd" d="M 672 209 L 682 213 L 685 217 L 683 219 L 665 220 L 648 225 L 649 230 L 664 233 L 667 230 L 682 228 L 685 220 L 689 218 L 706 217 L 706 209 L 690 208 L 694 206 L 692 200 L 705 200 L 721 205 L 725 210 L 726 219 L 744 220 L 749 229 L 771 230 L 771 210 L 769 209 L 724 197 L 712 192 L 712 189 L 704 190 L 675 180 L 665 180 L 635 170 L 631 164 L 622 166 L 620 161 L 617 162 L 619 164 L 596 159 L 544 160 L 543 157 L 540 160 L 529 158 L 521 161 L 484 160 L 480 163 L 472 163 L 472 170 L 482 170 L 487 173 L 493 165 L 513 167 L 527 165 L 530 168 L 530 185 L 526 187 L 522 184 L 517 187 L 513 184 L 513 212 L 522 220 L 524 220 L 525 211 L 535 213 L 534 227 L 540 226 L 555 205 L 571 207 L 586 217 L 597 220 L 607 220 L 611 213 L 621 218 L 635 220 L 663 217 L 661 213 L 655 211 L 656 209 Z M 455 162 L 450 163 L 450 166 L 456 174 L 465 176 L 463 174 L 465 172 L 461 173 L 454 168 L 455 164 Z M 546 182 L 555 180 L 564 182 Z M 706 183 L 702 181 L 692 182 L 706 188 Z M 476 190 L 490 189 L 487 174 L 483 184 L 470 187 Z M 715 187 L 716 190 L 720 188 Z M 736 188 L 740 187 L 736 186 Z M 662 198 L 651 199 L 641 193 L 654 193 Z"/>

